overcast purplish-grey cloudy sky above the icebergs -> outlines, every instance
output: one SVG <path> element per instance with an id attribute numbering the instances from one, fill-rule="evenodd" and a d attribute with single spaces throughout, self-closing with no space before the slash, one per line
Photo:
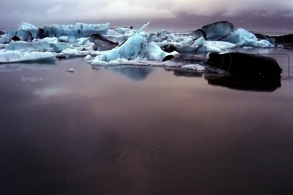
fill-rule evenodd
<path id="1" fill-rule="evenodd" d="M 0 28 L 76 22 L 188 31 L 219 20 L 264 32 L 293 32 L 293 0 L 1 0 Z"/>

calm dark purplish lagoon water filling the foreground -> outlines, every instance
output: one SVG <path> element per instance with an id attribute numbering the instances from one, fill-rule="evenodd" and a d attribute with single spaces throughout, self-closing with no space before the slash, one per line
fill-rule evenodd
<path id="1" fill-rule="evenodd" d="M 292 78 L 85 62 L 0 65 L 0 195 L 293 194 Z"/>

